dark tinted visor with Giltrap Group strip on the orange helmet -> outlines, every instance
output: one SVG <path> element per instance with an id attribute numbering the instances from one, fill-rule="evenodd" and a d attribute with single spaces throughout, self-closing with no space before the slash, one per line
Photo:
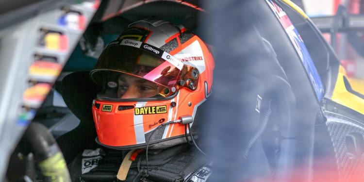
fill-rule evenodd
<path id="1" fill-rule="evenodd" d="M 124 45 L 120 45 L 122 43 Z M 138 47 L 134 45 L 138 45 Z M 154 82 L 158 85 L 158 93 L 164 97 L 176 92 L 189 82 L 194 82 L 194 86 L 190 89 L 195 90 L 198 83 L 196 68 L 183 65 L 182 62 L 163 50 L 127 39 L 111 42 L 103 50 L 98 63 L 90 73 L 91 78 L 96 83 L 107 84 L 107 72 L 109 71 L 125 73 Z M 181 80 L 184 82 L 179 82 Z M 179 85 L 177 85 L 178 82 Z"/>

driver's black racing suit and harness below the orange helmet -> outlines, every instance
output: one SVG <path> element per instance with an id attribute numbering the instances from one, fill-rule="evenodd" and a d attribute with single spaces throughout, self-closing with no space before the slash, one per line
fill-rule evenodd
<path id="1" fill-rule="evenodd" d="M 70 165 L 73 182 L 117 182 L 116 174 L 128 150 L 104 149 L 99 166 L 81 174 L 82 156 Z M 138 164 L 139 163 L 139 164 Z M 139 165 L 139 166 L 138 166 Z M 167 149 L 140 152 L 129 169 L 125 182 L 205 182 L 211 174 L 209 159 L 195 147 L 180 144 Z"/>

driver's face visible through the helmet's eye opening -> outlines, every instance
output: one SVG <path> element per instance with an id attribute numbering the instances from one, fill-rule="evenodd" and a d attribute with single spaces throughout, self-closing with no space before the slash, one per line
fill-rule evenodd
<path id="1" fill-rule="evenodd" d="M 121 74 L 118 79 L 117 98 L 150 98 L 158 94 L 156 83 L 134 77 L 127 74 Z"/>

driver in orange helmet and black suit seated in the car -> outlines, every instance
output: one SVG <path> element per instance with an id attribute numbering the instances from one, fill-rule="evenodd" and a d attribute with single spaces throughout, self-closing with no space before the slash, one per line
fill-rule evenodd
<path id="1" fill-rule="evenodd" d="M 96 141 L 123 153 L 119 181 L 203 182 L 210 176 L 211 161 L 195 140 L 214 66 L 197 35 L 161 20 L 132 23 L 106 46 L 90 72 L 101 86 L 92 113 Z M 98 170 L 81 180 L 92 174 L 100 180 Z"/>

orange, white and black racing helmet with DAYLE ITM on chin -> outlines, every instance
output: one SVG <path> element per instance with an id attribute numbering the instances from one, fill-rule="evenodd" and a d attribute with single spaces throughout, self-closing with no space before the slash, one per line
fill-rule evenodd
<path id="1" fill-rule="evenodd" d="M 96 141 L 112 149 L 146 148 L 147 141 L 150 149 L 163 149 L 186 142 L 182 123 L 160 125 L 196 117 L 211 93 L 214 66 L 207 45 L 183 26 L 162 20 L 132 23 L 106 46 L 90 72 L 101 86 L 92 106 Z M 155 83 L 155 96 L 123 99 L 123 76 Z M 187 132 L 195 134 L 197 122 Z"/>

